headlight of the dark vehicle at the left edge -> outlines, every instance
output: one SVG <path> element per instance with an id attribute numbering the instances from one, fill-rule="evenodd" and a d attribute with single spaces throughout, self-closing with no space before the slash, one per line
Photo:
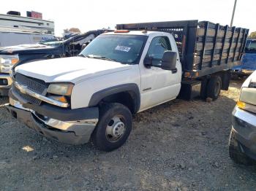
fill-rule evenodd
<path id="1" fill-rule="evenodd" d="M 18 55 L 0 55 L 0 72 L 9 73 L 12 66 L 18 61 Z"/>

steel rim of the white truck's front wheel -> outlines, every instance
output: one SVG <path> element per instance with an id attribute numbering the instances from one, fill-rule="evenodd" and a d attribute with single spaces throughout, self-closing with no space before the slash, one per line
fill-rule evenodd
<path id="1" fill-rule="evenodd" d="M 124 118 L 116 115 L 108 122 L 105 136 L 108 141 L 116 142 L 124 136 L 125 131 Z"/>

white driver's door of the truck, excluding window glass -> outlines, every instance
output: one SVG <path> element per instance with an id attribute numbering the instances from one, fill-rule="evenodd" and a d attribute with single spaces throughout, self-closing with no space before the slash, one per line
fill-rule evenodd
<path id="1" fill-rule="evenodd" d="M 176 63 L 176 68 L 178 71 L 176 74 L 172 74 L 172 71 L 163 70 L 159 67 L 151 67 L 151 69 L 146 69 L 146 67 L 143 65 L 144 58 L 148 52 L 148 47 L 151 44 L 151 40 L 156 36 L 167 36 L 170 39 L 172 50 L 174 52 L 178 52 L 176 42 L 172 35 L 162 32 L 149 34 L 148 41 L 146 42 L 146 46 L 143 50 L 139 64 L 141 75 L 140 112 L 153 106 L 162 104 L 166 101 L 175 99 L 181 89 L 181 63 L 178 55 L 178 61 Z M 147 90 L 148 88 L 151 89 Z"/>

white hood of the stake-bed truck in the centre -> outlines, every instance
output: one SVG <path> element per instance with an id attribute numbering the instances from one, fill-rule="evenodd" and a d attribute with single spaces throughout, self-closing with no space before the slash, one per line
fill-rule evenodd
<path id="1" fill-rule="evenodd" d="M 129 69 L 128 64 L 94 58 L 70 57 L 25 63 L 15 72 L 45 82 L 72 82 L 91 79 Z"/>

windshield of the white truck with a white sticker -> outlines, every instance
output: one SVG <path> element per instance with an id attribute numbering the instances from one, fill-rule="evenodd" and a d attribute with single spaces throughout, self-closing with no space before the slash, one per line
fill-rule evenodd
<path id="1" fill-rule="evenodd" d="M 147 38 L 142 35 L 100 35 L 80 55 L 121 63 L 138 63 Z"/>

